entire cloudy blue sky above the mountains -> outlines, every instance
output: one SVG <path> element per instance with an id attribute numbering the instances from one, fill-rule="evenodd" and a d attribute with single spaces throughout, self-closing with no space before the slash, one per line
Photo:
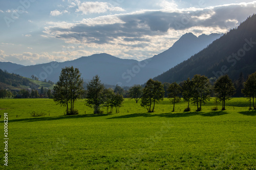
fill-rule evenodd
<path id="1" fill-rule="evenodd" d="M 185 33 L 226 33 L 255 12 L 256 1 L 246 0 L 0 0 L 0 61 L 34 65 L 99 53 L 141 61 Z"/>

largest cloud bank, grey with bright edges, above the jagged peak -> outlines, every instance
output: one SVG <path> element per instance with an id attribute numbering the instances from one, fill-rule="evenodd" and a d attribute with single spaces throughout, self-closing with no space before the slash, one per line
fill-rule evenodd
<path id="1" fill-rule="evenodd" d="M 167 1 L 161 3 L 163 5 Z M 88 6 L 83 13 L 96 12 L 94 10 L 97 8 L 101 8 L 103 12 L 108 6 L 108 3 L 93 4 L 95 6 Z M 176 8 L 175 5 L 174 7 Z M 256 10 L 256 2 L 204 9 L 166 9 L 104 15 L 76 22 L 48 22 L 44 33 L 72 46 L 82 44 L 97 49 L 99 53 L 110 52 L 121 58 L 145 58 L 166 50 L 187 32 L 197 36 L 227 32 Z"/>

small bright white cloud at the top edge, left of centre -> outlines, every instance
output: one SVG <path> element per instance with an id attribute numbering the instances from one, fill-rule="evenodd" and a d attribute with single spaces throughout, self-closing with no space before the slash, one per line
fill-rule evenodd
<path id="1" fill-rule="evenodd" d="M 87 13 L 104 13 L 106 11 L 125 11 L 121 7 L 114 7 L 109 3 L 103 2 L 84 2 L 78 6 L 76 12 Z"/>

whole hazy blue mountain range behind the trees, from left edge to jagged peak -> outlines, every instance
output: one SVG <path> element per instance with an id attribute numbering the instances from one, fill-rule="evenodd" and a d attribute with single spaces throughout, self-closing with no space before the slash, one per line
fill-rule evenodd
<path id="1" fill-rule="evenodd" d="M 219 37 L 221 37 L 220 34 L 202 34 L 197 37 L 192 33 L 186 33 L 168 50 L 143 61 L 120 59 L 109 54 L 95 54 L 80 57 L 73 61 L 50 62 L 31 66 L 0 62 L 0 68 L 27 78 L 34 75 L 42 81 L 46 79 L 57 82 L 61 68 L 73 65 L 79 68 L 86 82 L 91 80 L 93 76 L 99 75 L 104 84 L 132 86 L 143 84 L 148 79 L 154 78 L 187 60 Z"/>

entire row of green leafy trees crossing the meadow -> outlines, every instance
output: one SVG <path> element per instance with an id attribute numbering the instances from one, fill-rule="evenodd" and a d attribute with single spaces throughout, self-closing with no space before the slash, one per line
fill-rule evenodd
<path id="1" fill-rule="evenodd" d="M 241 92 L 250 99 L 253 109 L 255 108 L 254 99 L 256 98 L 256 72 L 248 77 L 244 83 L 244 88 Z M 155 104 L 162 101 L 167 95 L 170 102 L 175 104 L 181 101 L 187 101 L 187 108 L 184 111 L 190 111 L 189 104 L 196 104 L 197 111 L 202 110 L 202 104 L 210 100 L 210 97 L 215 96 L 215 101 L 222 102 L 222 110 L 225 110 L 225 103 L 231 99 L 231 96 L 236 93 L 236 88 L 231 79 L 227 76 L 221 76 L 211 85 L 206 76 L 195 75 L 193 79 L 187 79 L 181 83 L 162 84 L 159 81 L 152 79 L 146 82 L 145 87 L 134 85 L 129 89 L 129 95 L 135 99 L 136 103 L 141 100 L 141 106 L 146 108 L 148 112 L 154 112 Z M 78 68 L 66 67 L 62 68 L 59 76 L 59 81 L 54 86 L 53 98 L 57 104 L 66 107 L 67 114 L 78 114 L 74 108 L 75 101 L 86 98 L 86 105 L 94 109 L 95 114 L 103 113 L 102 107 L 106 108 L 107 113 L 119 112 L 119 108 L 123 103 L 124 90 L 120 86 L 105 88 L 99 77 L 96 75 L 86 85 L 86 90 L 83 87 L 83 80 Z M 215 110 L 218 108 L 215 107 Z"/>

